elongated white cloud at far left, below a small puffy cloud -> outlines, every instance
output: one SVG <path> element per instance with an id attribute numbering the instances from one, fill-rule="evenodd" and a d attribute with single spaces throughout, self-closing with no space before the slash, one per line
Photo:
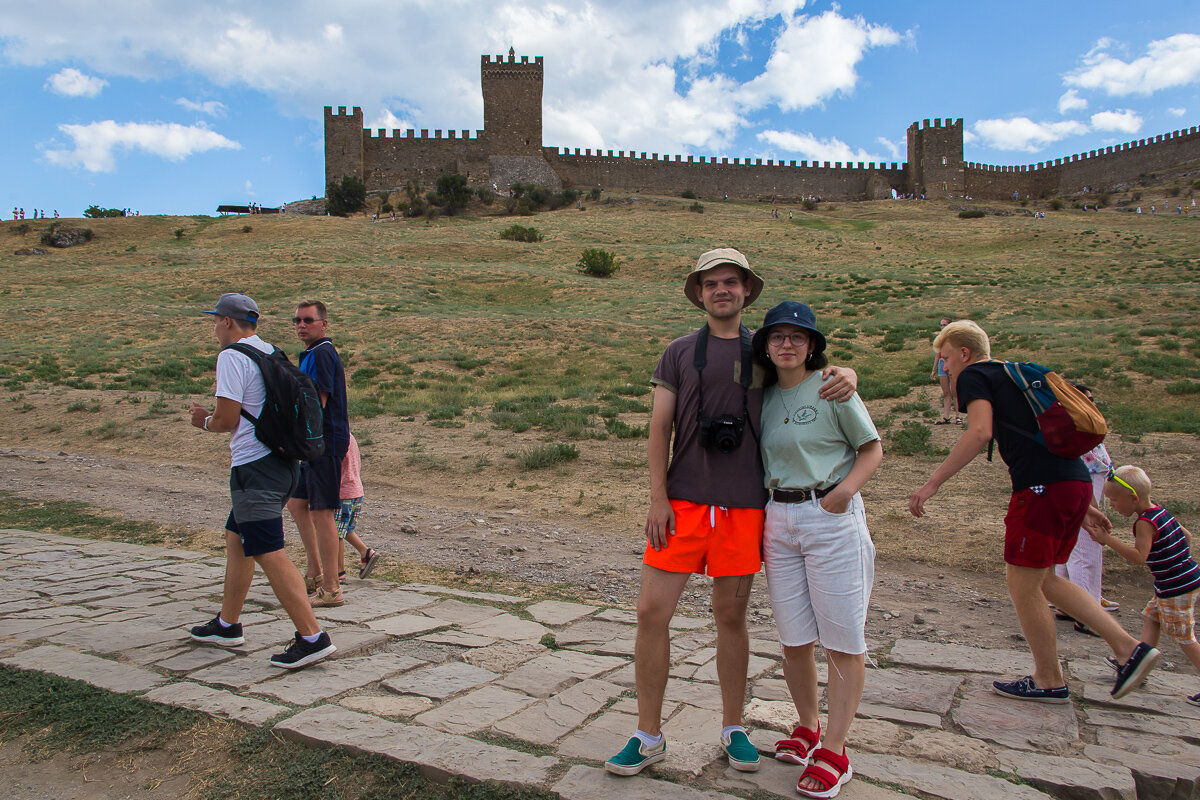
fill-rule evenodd
<path id="1" fill-rule="evenodd" d="M 83 167 L 90 173 L 110 173 L 116 169 L 116 151 L 142 150 L 168 161 L 184 158 L 208 150 L 239 150 L 241 145 L 203 125 L 184 126 L 175 122 L 114 122 L 104 120 L 89 125 L 60 125 L 71 137 L 71 150 L 43 148 L 47 161 L 59 167 Z"/>

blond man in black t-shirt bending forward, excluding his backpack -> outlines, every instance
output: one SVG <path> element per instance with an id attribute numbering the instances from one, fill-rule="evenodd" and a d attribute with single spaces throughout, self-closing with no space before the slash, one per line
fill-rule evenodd
<path id="1" fill-rule="evenodd" d="M 1159 652 L 1129 636 L 1084 589 L 1055 575 L 1075 547 L 1080 527 L 1111 530 L 1093 504 L 1092 482 L 1080 458 L 1063 458 L 1039 438 L 1038 420 L 1003 361 L 991 357 L 988 333 L 968 319 L 942 329 L 934 348 L 958 390 L 967 429 L 942 465 L 908 500 L 914 517 L 925 503 L 996 438 L 1008 465 L 1013 495 L 1004 516 L 1004 564 L 1008 594 L 1033 655 L 1033 674 L 995 681 L 997 694 L 1039 703 L 1070 699 L 1058 663 L 1057 630 L 1048 603 L 1100 634 L 1118 663 L 1111 694 L 1120 699 L 1138 688 L 1158 663 Z"/>

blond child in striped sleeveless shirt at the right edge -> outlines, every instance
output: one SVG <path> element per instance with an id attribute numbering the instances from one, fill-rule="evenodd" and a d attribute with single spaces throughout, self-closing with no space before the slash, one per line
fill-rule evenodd
<path id="1" fill-rule="evenodd" d="M 1200 597 L 1200 566 L 1192 558 L 1190 534 L 1170 511 L 1150 499 L 1150 476 L 1138 467 L 1109 473 L 1104 497 L 1117 513 L 1133 517 L 1133 546 L 1112 534 L 1092 535 L 1130 564 L 1145 564 L 1154 576 L 1154 596 L 1142 610 L 1144 642 L 1158 643 L 1160 633 L 1175 639 L 1200 672 L 1200 642 L 1195 636 L 1195 607 Z M 1187 698 L 1200 705 L 1200 692 Z"/>

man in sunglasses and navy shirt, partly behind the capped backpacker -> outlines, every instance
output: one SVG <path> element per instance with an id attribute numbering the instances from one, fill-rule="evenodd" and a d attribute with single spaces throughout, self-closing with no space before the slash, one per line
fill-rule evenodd
<path id="1" fill-rule="evenodd" d="M 314 608 L 341 606 L 342 587 L 337 581 L 338 509 L 342 507 L 342 459 L 350 446 L 350 420 L 346 405 L 346 369 L 337 348 L 325 335 L 329 309 L 319 300 L 301 300 L 292 319 L 296 337 L 308 348 L 300 356 L 300 369 L 312 378 L 320 393 L 322 429 L 325 449 L 300 464 L 300 482 L 288 500 L 288 511 L 300 531 L 305 557 L 306 588 Z"/>

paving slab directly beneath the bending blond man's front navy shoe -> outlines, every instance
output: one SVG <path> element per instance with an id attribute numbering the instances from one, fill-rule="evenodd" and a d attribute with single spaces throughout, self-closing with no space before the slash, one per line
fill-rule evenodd
<path id="1" fill-rule="evenodd" d="M 1001 697 L 980 682 L 970 682 L 952 712 L 955 723 L 972 736 L 1016 750 L 1061 753 L 1079 741 L 1073 703 L 1054 705 Z"/>

